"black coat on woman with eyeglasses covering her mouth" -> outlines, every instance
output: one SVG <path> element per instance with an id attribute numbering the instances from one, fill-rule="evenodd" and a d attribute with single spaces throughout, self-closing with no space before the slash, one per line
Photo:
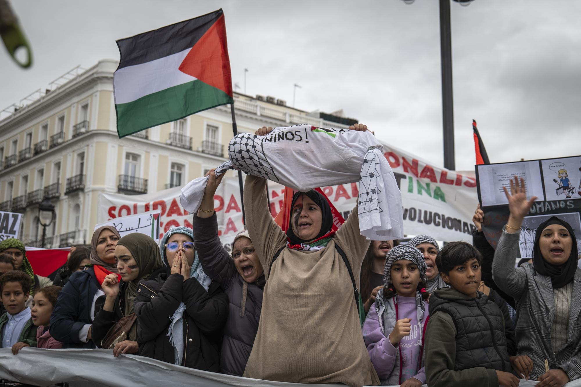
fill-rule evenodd
<path id="1" fill-rule="evenodd" d="M 209 291 L 196 279 L 162 273 L 141 281 L 134 309 L 137 314 L 139 355 L 174 364 L 167 337 L 170 317 L 184 302 L 184 355 L 181 366 L 220 372 L 220 342 L 228 317 L 228 296 L 212 281 Z"/>

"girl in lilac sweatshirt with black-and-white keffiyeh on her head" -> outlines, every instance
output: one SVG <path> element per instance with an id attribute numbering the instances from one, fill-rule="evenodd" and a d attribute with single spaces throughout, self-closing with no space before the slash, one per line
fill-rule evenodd
<path id="1" fill-rule="evenodd" d="M 425 384 L 423 366 L 428 323 L 426 263 L 415 247 L 396 246 L 385 259 L 383 288 L 363 324 L 363 338 L 382 385 Z"/>

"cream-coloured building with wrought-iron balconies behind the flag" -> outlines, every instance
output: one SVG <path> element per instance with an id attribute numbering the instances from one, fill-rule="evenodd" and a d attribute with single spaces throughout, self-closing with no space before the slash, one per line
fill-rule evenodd
<path id="1" fill-rule="evenodd" d="M 182 186 L 225 160 L 232 138 L 229 105 L 119 139 L 116 68 L 113 60 L 77 67 L 0 115 L 0 211 L 24 214 L 20 238 L 28 245 L 41 244 L 38 204 L 45 197 L 56 207 L 46 246 L 90 243 L 100 192 L 142 194 Z M 340 111 L 306 113 L 270 96 L 234 98 L 239 132 L 353 123 Z"/>

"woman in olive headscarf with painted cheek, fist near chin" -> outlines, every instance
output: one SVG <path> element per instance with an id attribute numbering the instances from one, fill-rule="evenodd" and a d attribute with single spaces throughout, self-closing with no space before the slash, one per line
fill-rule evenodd
<path id="1" fill-rule="evenodd" d="M 139 281 L 153 278 L 164 270 L 155 241 L 139 233 L 128 234 L 117 242 L 115 261 L 121 279 L 117 274 L 107 274 L 103 280 L 101 288 L 105 292 L 105 303 L 96 314 L 91 328 L 93 342 L 98 348 L 103 348 L 103 341 L 108 338 L 113 325 L 134 313 Z M 113 356 L 138 352 L 138 323 L 132 324 L 129 331 L 125 332 L 126 339 L 117 339 L 109 346 L 109 349 L 113 349 Z"/>

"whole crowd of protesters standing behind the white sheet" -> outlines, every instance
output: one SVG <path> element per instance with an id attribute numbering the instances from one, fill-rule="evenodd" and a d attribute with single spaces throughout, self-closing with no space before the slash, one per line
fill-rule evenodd
<path id="1" fill-rule="evenodd" d="M 90 247 L 71 248 L 54 283 L 34 274 L 21 241 L 2 241 L 2 347 L 16 356 L 26 346 L 104 348 L 229 375 L 349 386 L 530 379 L 561 387 L 581 378 L 576 237 L 553 216 L 537 229 L 532 259 L 515 266 L 535 200 L 522 179 L 505 189 L 510 218 L 495 250 L 479 207 L 473 243 L 440 249 L 427 235 L 366 240 L 357 206 L 334 230 L 315 190 L 294 194 L 284 232 L 268 210 L 266 180 L 247 176 L 247 229 L 229 253 L 213 210 L 222 176 L 207 178 L 193 229 L 172 227 L 156 244 L 101 227 Z"/>

